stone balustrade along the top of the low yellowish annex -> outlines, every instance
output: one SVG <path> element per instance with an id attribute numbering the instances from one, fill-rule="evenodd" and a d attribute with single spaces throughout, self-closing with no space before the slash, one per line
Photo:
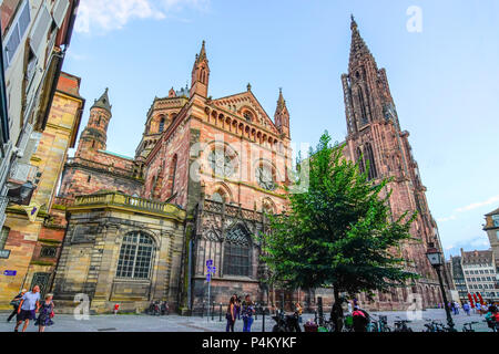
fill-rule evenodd
<path id="1" fill-rule="evenodd" d="M 154 201 L 150 199 L 143 199 L 139 197 L 131 197 L 120 192 L 81 196 L 77 197 L 74 201 L 74 207 L 94 206 L 94 205 L 122 206 L 135 210 L 142 210 L 145 212 L 176 216 L 180 219 L 184 219 L 186 216 L 185 210 L 182 210 L 174 205 Z"/>

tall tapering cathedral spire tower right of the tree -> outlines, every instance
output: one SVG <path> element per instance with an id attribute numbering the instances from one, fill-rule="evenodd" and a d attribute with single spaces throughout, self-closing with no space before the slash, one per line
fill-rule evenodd
<path id="1" fill-rule="evenodd" d="M 426 249 L 434 242 L 441 250 L 441 244 L 427 205 L 426 187 L 413 156 L 409 133 L 400 131 L 386 71 L 378 69 L 354 17 L 350 28 L 348 74 L 342 75 L 348 132 L 345 154 L 357 160 L 361 170 L 367 170 L 369 179 L 393 178 L 385 192 L 391 191 L 389 204 L 395 218 L 406 211 L 417 211 L 417 220 L 411 227 L 417 241 L 405 242 L 397 252 L 409 270 L 421 275 L 413 293 L 421 294 L 425 306 L 435 304 L 441 298 L 436 298 L 438 283 L 426 259 Z M 383 303 L 384 296 L 378 300 Z"/>

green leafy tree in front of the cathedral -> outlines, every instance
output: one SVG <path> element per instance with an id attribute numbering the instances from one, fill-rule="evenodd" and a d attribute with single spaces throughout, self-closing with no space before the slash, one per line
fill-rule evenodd
<path id="1" fill-rule="evenodd" d="M 269 216 L 271 231 L 262 235 L 271 282 L 288 289 L 333 287 L 338 303 L 342 292 L 371 296 L 417 277 L 404 270 L 395 251 L 411 239 L 416 215 L 395 219 L 389 194 L 383 192 L 389 180 L 368 180 L 368 166 L 360 171 L 343 149 L 330 145 L 327 132 L 322 136 L 312 157 L 298 163 L 309 166 L 308 189 L 289 194 L 286 211 Z"/>

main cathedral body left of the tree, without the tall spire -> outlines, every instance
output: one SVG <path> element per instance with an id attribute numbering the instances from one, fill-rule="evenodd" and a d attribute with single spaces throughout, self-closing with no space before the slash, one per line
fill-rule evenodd
<path id="1" fill-rule="evenodd" d="M 213 301 L 225 302 L 227 293 L 253 293 L 258 301 L 268 301 L 269 291 L 261 282 L 264 271 L 261 248 L 254 236 L 265 229 L 264 211 L 283 211 L 283 186 L 291 168 L 289 113 L 282 92 L 272 119 L 251 85 L 242 93 L 214 100 L 208 96 L 208 83 L 210 66 L 203 42 L 194 61 L 191 87 L 172 88 L 166 97 L 153 101 L 135 158 L 105 150 L 112 117 L 108 91 L 95 101 L 61 181 L 60 199 L 67 200 L 69 226 L 54 283 L 60 301 L 70 301 L 85 290 L 95 311 L 110 310 L 118 300 L 130 310 L 142 309 L 151 300 L 167 300 L 182 311 L 196 313 L 207 305 L 208 260 L 216 268 L 211 282 Z M 89 200 L 101 200 L 102 196 L 124 198 L 126 208 L 141 210 L 141 218 L 136 217 L 138 211 L 126 218 L 113 214 L 112 222 L 118 231 L 112 237 L 101 235 L 104 231 L 95 222 L 111 218 L 105 214 L 110 211 L 89 215 L 81 209 Z M 149 215 L 155 206 L 174 208 L 176 214 L 185 212 L 187 217 L 182 221 L 180 217 L 173 220 L 170 215 Z M 106 222 L 110 221 L 101 223 Z M 134 271 L 121 271 L 124 254 L 118 250 L 126 247 L 126 232 L 147 230 L 154 222 L 160 222 L 156 228 L 161 236 L 152 243 L 169 244 L 162 237 L 170 238 L 173 243 L 163 251 L 170 252 L 171 262 L 154 266 L 164 269 L 156 275 L 153 266 L 149 268 L 151 271 L 139 272 L 140 281 L 156 289 L 145 291 L 144 285 L 139 294 L 139 288 L 131 290 L 138 278 Z M 169 227 L 175 231 L 169 231 Z M 82 228 L 86 231 L 79 231 Z M 89 238 L 79 240 L 72 232 L 83 232 Z M 79 241 L 74 242 L 74 238 Z M 114 263 L 109 268 L 92 266 L 90 253 L 95 252 L 98 240 L 116 244 Z M 70 254 L 86 254 L 82 256 L 86 258 Z M 147 264 L 155 264 L 156 259 L 149 257 Z M 166 274 L 171 277 L 167 281 Z M 116 289 L 126 291 L 98 290 L 100 277 L 105 277 L 108 283 L 120 283 Z"/>

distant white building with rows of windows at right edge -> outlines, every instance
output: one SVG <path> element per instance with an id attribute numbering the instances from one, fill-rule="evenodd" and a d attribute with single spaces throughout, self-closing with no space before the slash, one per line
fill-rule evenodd
<path id="1" fill-rule="evenodd" d="M 461 266 L 469 293 L 480 293 L 485 301 L 499 301 L 495 264 L 491 250 L 465 252 L 461 249 Z"/>

